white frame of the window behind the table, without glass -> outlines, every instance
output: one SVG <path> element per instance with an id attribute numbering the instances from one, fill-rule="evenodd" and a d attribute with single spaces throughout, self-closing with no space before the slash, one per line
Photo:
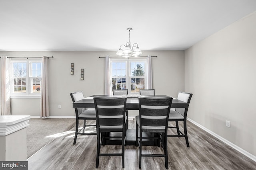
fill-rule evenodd
<path id="1" fill-rule="evenodd" d="M 132 59 L 110 59 L 110 75 L 111 75 L 111 80 L 112 80 L 112 78 L 122 78 L 122 77 L 124 77 L 124 76 L 112 76 L 112 63 L 113 62 L 126 62 L 126 76 L 125 76 L 125 78 L 126 78 L 126 89 L 128 89 L 128 94 L 130 95 L 130 94 L 140 94 L 140 92 L 131 92 L 131 82 L 130 82 L 130 80 L 131 80 L 131 78 L 141 78 L 142 76 L 132 76 L 131 75 L 131 63 L 132 62 L 143 62 L 143 63 L 145 63 L 145 65 L 144 65 L 144 76 L 143 76 L 143 78 L 144 78 L 144 81 L 145 81 L 145 84 L 144 84 L 144 86 L 145 86 L 145 89 L 147 88 L 146 86 L 146 81 L 147 81 L 147 62 L 148 62 L 148 60 L 147 60 L 147 58 L 146 59 L 141 59 L 141 58 L 132 58 Z M 128 80 L 128 81 L 127 81 Z M 112 86 L 112 84 L 111 84 L 111 86 Z M 112 89 L 112 87 L 111 87 L 111 89 Z M 112 89 L 113 90 L 113 89 Z"/>

